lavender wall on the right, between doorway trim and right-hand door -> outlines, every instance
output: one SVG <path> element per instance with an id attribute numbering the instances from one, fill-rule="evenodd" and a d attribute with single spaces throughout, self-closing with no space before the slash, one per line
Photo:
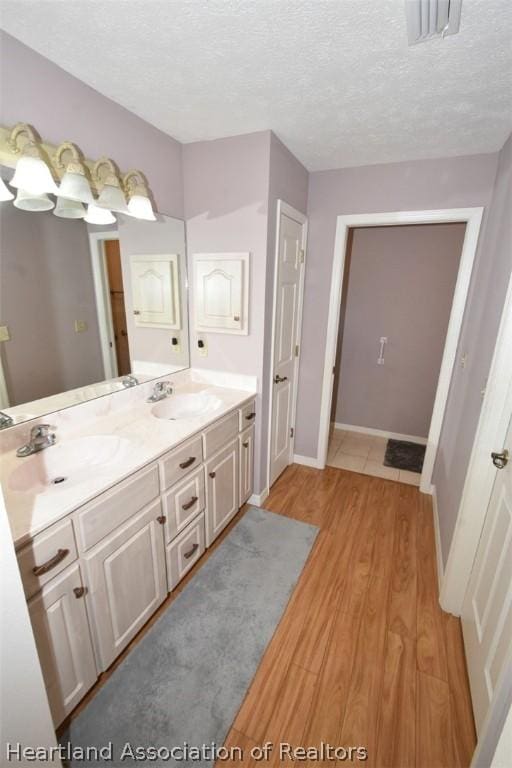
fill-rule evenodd
<path id="1" fill-rule="evenodd" d="M 499 155 L 477 259 L 458 349 L 458 359 L 466 353 L 467 362 L 452 377 L 433 476 L 445 562 L 512 269 L 512 136 Z"/>

